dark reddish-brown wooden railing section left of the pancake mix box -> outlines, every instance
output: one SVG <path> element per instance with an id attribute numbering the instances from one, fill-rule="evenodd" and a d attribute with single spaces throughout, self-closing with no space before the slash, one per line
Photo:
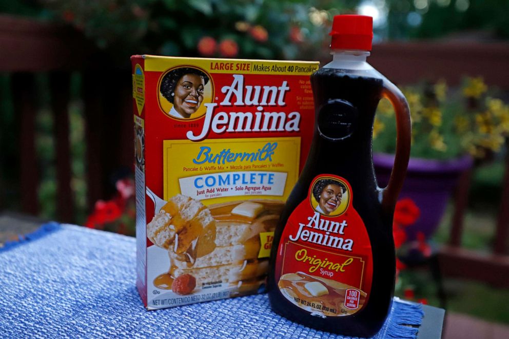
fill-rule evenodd
<path id="1" fill-rule="evenodd" d="M 115 168 L 132 166 L 132 116 L 128 68 L 118 70 L 105 61 L 79 32 L 31 19 L 0 15 L 0 73 L 11 79 L 23 211 L 39 211 L 40 174 L 35 150 L 35 74 L 49 77 L 51 111 L 56 144 L 57 218 L 74 221 L 69 143 L 69 86 L 72 72 L 82 78 L 87 143 L 87 203 L 108 198 L 109 177 Z M 126 56 L 126 61 L 128 56 Z M 126 62 L 127 63 L 127 62 Z M 3 179 L 0 178 L 0 209 Z"/>

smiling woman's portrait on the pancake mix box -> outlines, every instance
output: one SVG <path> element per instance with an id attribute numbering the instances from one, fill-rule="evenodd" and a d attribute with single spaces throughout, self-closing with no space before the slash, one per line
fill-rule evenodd
<path id="1" fill-rule="evenodd" d="M 188 119 L 203 102 L 209 77 L 202 71 L 181 67 L 168 72 L 161 80 L 161 95 L 173 104 L 170 116 Z"/>

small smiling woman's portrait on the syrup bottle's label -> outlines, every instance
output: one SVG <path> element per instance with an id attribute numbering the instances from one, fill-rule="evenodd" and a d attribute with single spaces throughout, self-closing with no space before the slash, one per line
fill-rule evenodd
<path id="1" fill-rule="evenodd" d="M 315 210 L 324 215 L 334 214 L 341 204 L 346 191 L 344 184 L 337 180 L 321 179 L 313 187 L 312 194 L 318 202 Z"/>

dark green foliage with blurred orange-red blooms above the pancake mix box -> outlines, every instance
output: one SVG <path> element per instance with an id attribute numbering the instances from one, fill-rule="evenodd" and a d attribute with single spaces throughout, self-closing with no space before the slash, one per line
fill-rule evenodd
<path id="1" fill-rule="evenodd" d="M 332 17 L 358 2 L 42 0 L 53 20 L 71 24 L 117 58 L 143 53 L 261 59 L 309 58 L 328 40 Z"/>

